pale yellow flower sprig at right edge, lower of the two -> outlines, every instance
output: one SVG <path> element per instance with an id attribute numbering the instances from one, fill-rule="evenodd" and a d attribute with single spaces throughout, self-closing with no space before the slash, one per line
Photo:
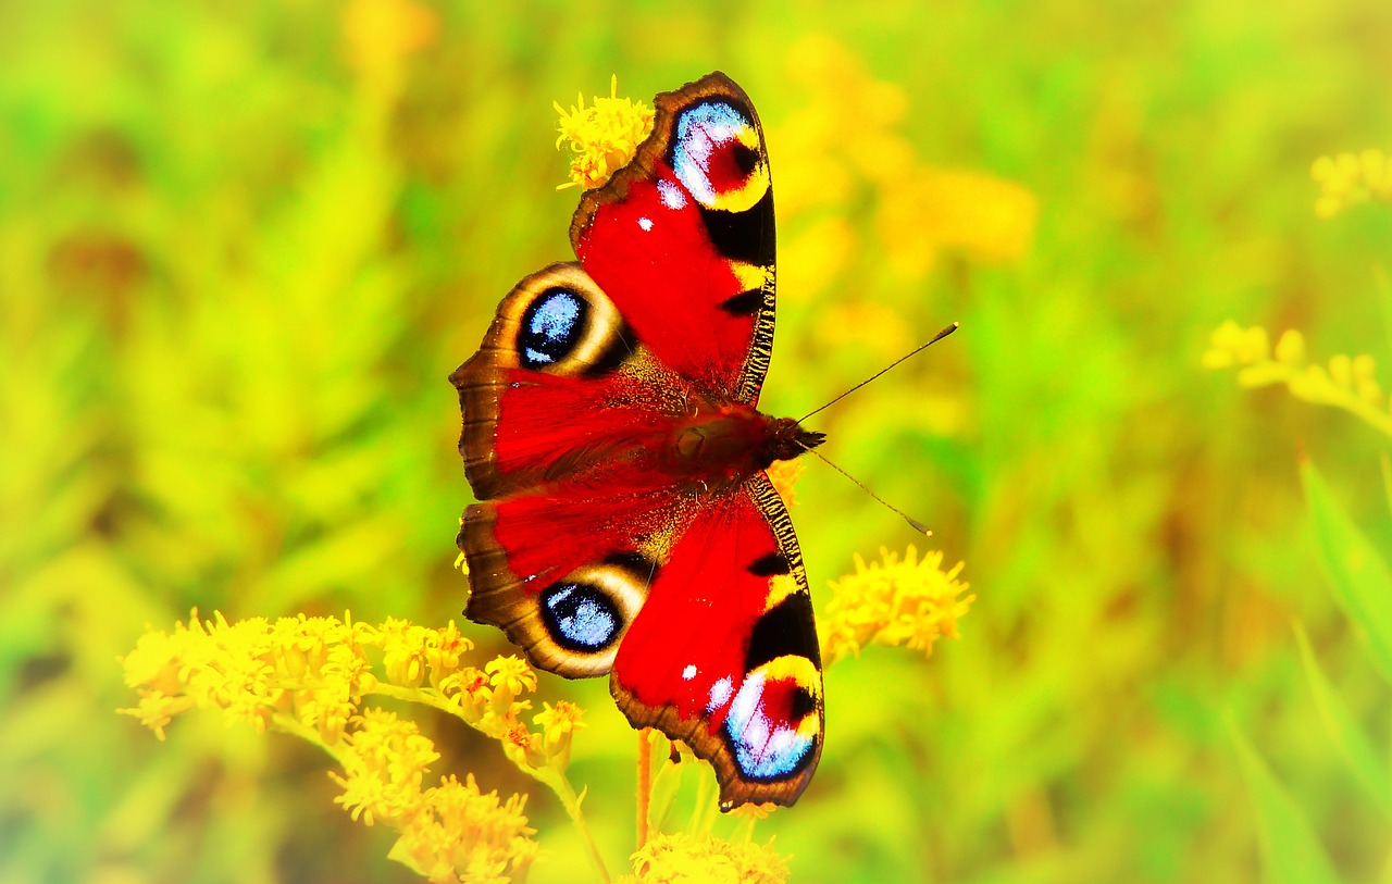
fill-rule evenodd
<path id="1" fill-rule="evenodd" d="M 1318 365 L 1308 361 L 1304 336 L 1295 329 L 1282 333 L 1272 349 L 1265 329 L 1243 329 L 1229 320 L 1214 330 L 1204 366 L 1240 369 L 1237 383 L 1243 387 L 1285 384 L 1296 398 L 1342 408 L 1392 436 L 1392 402 L 1368 354 L 1339 354 Z"/>

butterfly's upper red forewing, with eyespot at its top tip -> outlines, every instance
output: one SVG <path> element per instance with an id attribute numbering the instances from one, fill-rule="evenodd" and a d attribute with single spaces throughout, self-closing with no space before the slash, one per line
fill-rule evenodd
<path id="1" fill-rule="evenodd" d="M 774 336 L 763 128 L 724 74 L 658 95 L 651 136 L 580 200 L 571 244 L 638 338 L 706 393 L 754 405 Z"/>

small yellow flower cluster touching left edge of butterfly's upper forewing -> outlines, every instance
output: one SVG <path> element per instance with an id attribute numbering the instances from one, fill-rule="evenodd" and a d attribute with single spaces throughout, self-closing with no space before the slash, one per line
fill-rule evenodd
<path id="1" fill-rule="evenodd" d="M 638 146 L 653 131 L 653 109 L 618 97 L 618 75 L 610 79 L 608 97 L 594 96 L 594 103 L 586 107 L 580 95 L 571 110 L 561 107 L 560 102 L 554 107 L 561 116 L 555 149 L 571 142 L 575 155 L 571 157 L 571 180 L 558 185 L 558 191 L 603 187 L 610 175 L 628 166 Z"/>

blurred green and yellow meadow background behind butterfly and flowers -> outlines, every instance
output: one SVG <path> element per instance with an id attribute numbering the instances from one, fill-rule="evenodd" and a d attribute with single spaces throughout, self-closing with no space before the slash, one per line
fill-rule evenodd
<path id="1" fill-rule="evenodd" d="M 412 880 L 309 746 L 116 716 L 117 657 L 192 606 L 458 618 L 445 376 L 568 258 L 551 102 L 720 68 L 778 194 L 766 411 L 963 323 L 817 419 L 979 600 L 828 671 L 757 830 L 792 880 L 1392 881 L 1392 689 L 1297 468 L 1386 550 L 1389 440 L 1201 365 L 1225 319 L 1388 355 L 1392 212 L 1317 219 L 1310 164 L 1392 145 L 1392 6 L 19 0 L 0 58 L 0 880 Z M 814 593 L 913 539 L 816 464 L 799 498 Z M 636 741 L 601 681 L 540 697 L 621 870 Z M 590 880 L 441 729 L 532 794 L 532 880 Z"/>

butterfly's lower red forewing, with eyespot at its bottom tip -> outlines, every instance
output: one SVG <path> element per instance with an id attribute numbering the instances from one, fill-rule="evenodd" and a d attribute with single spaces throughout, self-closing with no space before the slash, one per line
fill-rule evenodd
<path id="1" fill-rule="evenodd" d="M 767 475 L 695 518 L 610 678 L 635 727 L 715 767 L 721 806 L 791 805 L 821 755 L 821 654 L 788 510 Z"/>

